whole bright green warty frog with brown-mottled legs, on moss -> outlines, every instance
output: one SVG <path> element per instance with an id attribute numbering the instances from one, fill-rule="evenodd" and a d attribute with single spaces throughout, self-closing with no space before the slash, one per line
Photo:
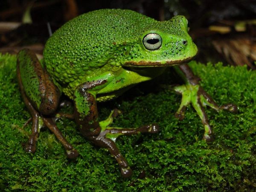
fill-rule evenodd
<path id="1" fill-rule="evenodd" d="M 188 34 L 184 16 L 157 21 L 131 10 L 102 9 L 80 15 L 65 23 L 47 41 L 42 62 L 29 49 L 17 55 L 17 79 L 21 95 L 32 116 L 32 133 L 26 151 L 34 153 L 38 133 L 48 127 L 61 142 L 68 158 L 79 153 L 57 128 L 53 117 L 75 119 L 80 133 L 92 143 L 107 148 L 120 166 L 123 177 L 132 170 L 116 147 L 120 135 L 157 133 L 155 123 L 138 128 L 116 128 L 109 125 L 119 114 L 99 121 L 97 102 L 108 101 L 143 81 L 162 74 L 168 67 L 185 81 L 175 87 L 182 94 L 175 116 L 184 118 L 186 106 L 192 103 L 204 125 L 204 139 L 212 140 L 204 105 L 215 110 L 236 111 L 235 105 L 219 107 L 199 86 L 198 78 L 185 64 L 197 54 Z M 73 114 L 57 113 L 64 93 L 74 103 Z"/>

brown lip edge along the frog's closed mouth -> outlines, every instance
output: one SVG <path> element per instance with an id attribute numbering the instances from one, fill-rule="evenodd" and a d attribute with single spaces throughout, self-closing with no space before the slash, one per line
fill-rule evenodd
<path id="1" fill-rule="evenodd" d="M 175 60 L 175 61 L 127 61 L 125 62 L 124 66 L 127 67 L 166 67 L 166 66 L 173 66 L 179 64 L 185 64 L 191 61 L 194 57 L 189 57 L 182 60 Z"/>

